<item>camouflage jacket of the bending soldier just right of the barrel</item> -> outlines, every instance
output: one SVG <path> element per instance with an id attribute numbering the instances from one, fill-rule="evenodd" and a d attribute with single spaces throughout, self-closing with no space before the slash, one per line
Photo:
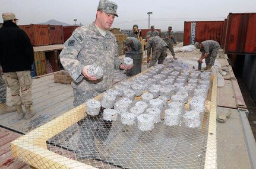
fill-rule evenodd
<path id="1" fill-rule="evenodd" d="M 151 53 L 151 48 L 152 51 L 157 50 L 159 48 L 162 47 L 167 47 L 168 45 L 165 43 L 165 41 L 162 40 L 162 38 L 156 36 L 156 37 L 151 37 L 149 38 L 149 40 L 147 41 L 147 56 L 150 56 Z"/>

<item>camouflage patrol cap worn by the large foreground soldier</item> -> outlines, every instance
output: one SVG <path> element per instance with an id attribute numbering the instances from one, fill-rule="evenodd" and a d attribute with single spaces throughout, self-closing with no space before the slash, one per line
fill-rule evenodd
<path id="1" fill-rule="evenodd" d="M 115 2 L 108 0 L 100 0 L 98 9 L 102 9 L 106 14 L 113 14 L 116 15 L 116 17 L 118 17 L 118 14 L 116 14 L 118 5 L 116 5 Z"/>

